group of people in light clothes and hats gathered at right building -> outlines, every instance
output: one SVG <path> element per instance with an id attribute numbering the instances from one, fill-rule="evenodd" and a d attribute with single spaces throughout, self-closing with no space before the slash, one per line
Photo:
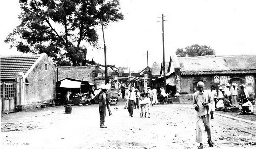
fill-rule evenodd
<path id="1" fill-rule="evenodd" d="M 250 112 L 253 112 L 253 105 L 252 103 L 248 100 L 249 94 L 247 89 L 245 88 L 245 85 L 242 84 L 240 85 L 241 87 L 241 94 L 240 94 L 240 98 L 241 100 L 237 103 L 237 93 L 236 95 L 232 95 L 232 90 L 240 90 L 237 87 L 237 84 L 232 84 L 233 86 L 231 88 L 229 88 L 229 86 L 231 86 L 230 84 L 226 84 L 225 88 L 224 88 L 224 96 L 222 94 L 222 87 L 219 87 L 218 90 L 218 98 L 216 99 L 216 110 L 223 110 L 223 112 L 227 112 L 227 111 L 231 111 L 232 107 L 238 107 L 240 108 L 241 114 L 248 114 Z M 231 90 L 231 92 L 229 92 Z M 233 100 L 232 100 L 233 99 Z"/>

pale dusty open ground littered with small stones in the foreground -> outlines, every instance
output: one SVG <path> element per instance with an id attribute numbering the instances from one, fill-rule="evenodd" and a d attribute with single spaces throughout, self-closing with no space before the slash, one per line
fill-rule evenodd
<path id="1" fill-rule="evenodd" d="M 151 118 L 140 118 L 138 109 L 134 110 L 133 118 L 129 117 L 124 102 L 110 108 L 113 114 L 106 116 L 105 129 L 99 128 L 98 105 L 73 106 L 71 114 L 64 114 L 63 107 L 49 107 L 4 115 L 0 146 L 4 149 L 194 149 L 198 146 L 196 116 L 191 104 L 151 106 Z M 212 141 L 216 144 L 213 148 L 255 148 L 251 145 L 256 142 L 254 124 L 215 115 L 212 125 Z M 203 135 L 204 148 L 211 148 L 206 132 Z"/>

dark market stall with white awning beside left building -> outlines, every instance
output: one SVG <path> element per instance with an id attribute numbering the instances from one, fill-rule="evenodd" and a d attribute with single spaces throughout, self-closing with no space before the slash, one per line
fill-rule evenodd
<path id="1" fill-rule="evenodd" d="M 90 98 L 90 88 L 94 85 L 89 81 L 65 78 L 56 84 L 57 102 L 63 104 L 79 105 L 80 101 L 87 102 Z M 69 99 L 68 99 L 69 96 Z"/>

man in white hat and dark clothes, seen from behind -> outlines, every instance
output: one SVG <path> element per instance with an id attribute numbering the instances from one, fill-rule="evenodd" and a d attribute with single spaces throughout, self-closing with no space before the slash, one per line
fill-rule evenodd
<path id="1" fill-rule="evenodd" d="M 105 126 L 105 117 L 106 117 L 106 106 L 108 106 L 108 98 L 107 98 L 107 86 L 105 84 L 99 86 L 101 88 L 101 92 L 98 94 L 99 99 L 99 121 L 101 124 L 99 125 L 99 128 L 107 128 Z M 109 114 L 110 115 L 110 114 Z"/>

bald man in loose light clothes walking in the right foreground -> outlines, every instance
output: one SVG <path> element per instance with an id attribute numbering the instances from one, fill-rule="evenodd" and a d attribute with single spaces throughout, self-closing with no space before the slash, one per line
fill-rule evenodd
<path id="1" fill-rule="evenodd" d="M 210 92 L 204 92 L 204 83 L 197 83 L 197 91 L 193 93 L 193 105 L 196 112 L 196 142 L 200 143 L 198 149 L 203 149 L 202 131 L 203 124 L 207 132 L 208 144 L 213 146 L 211 141 L 211 118 L 210 109 L 213 103 Z"/>

